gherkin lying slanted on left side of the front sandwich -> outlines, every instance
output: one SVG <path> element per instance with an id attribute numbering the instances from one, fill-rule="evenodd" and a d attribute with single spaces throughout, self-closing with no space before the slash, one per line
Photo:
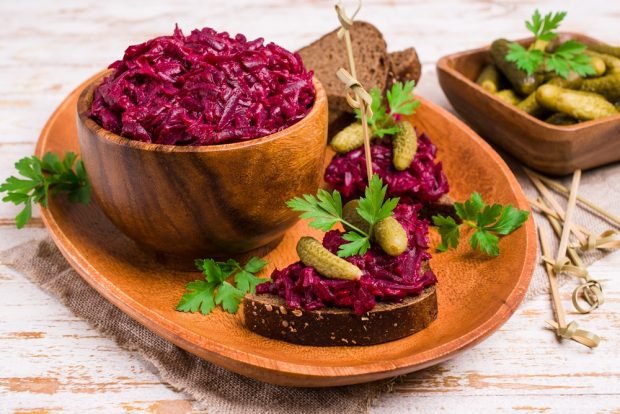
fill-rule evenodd
<path id="1" fill-rule="evenodd" d="M 306 266 L 314 267 L 330 279 L 359 280 L 362 270 L 327 250 L 313 237 L 304 236 L 297 242 L 297 254 Z"/>

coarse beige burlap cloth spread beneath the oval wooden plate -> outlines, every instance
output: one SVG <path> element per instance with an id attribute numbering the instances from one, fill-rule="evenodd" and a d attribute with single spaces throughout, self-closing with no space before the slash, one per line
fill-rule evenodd
<path id="1" fill-rule="evenodd" d="M 534 198 L 536 191 L 520 167 L 511 164 L 526 193 Z M 587 172 L 579 193 L 617 215 L 620 211 L 619 178 L 618 164 Z M 563 183 L 568 185 L 569 180 Z M 557 199 L 561 203 L 566 201 L 561 196 Z M 607 222 L 583 208 L 577 209 L 575 221 L 595 234 L 610 228 Z M 540 216 L 536 217 L 536 222 L 548 226 Z M 553 234 L 551 229 L 549 234 Z M 556 245 L 554 240 L 554 248 Z M 588 253 L 584 262 L 590 264 L 603 254 L 599 251 Z M 114 338 L 121 347 L 139 352 L 158 370 L 162 381 L 196 400 L 198 410 L 208 413 L 362 413 L 390 386 L 389 381 L 384 381 L 339 388 L 284 388 L 219 368 L 163 340 L 107 302 L 73 271 L 49 237 L 2 252 L 0 261 L 56 296 L 102 334 Z M 547 277 L 539 266 L 527 297 L 547 290 Z"/>

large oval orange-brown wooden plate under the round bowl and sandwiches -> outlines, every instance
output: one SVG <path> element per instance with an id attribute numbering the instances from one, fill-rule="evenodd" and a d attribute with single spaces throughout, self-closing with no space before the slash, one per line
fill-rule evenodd
<path id="1" fill-rule="evenodd" d="M 79 152 L 76 100 L 72 92 L 51 116 L 36 153 Z M 473 191 L 485 200 L 528 209 L 516 179 L 501 158 L 471 129 L 431 102 L 413 117 L 439 148 L 450 194 L 461 200 Z M 268 197 L 268 194 L 257 194 Z M 208 214 L 208 212 L 205 212 Z M 152 253 L 123 236 L 96 203 L 76 205 L 62 197 L 42 209 L 56 244 L 80 275 L 110 302 L 168 341 L 229 370 L 289 386 L 326 387 L 387 378 L 419 370 L 469 348 L 499 328 L 521 303 L 536 259 L 533 220 L 500 242 L 501 255 L 487 258 L 457 251 L 434 254 L 439 278 L 439 317 L 405 339 L 371 347 L 303 347 L 266 339 L 246 330 L 239 316 L 174 310 L 187 282 L 198 273 L 168 270 Z M 157 223 L 153 223 L 154 226 Z M 298 223 L 267 255 L 269 269 L 297 260 L 301 235 L 321 236 Z M 433 245 L 438 241 L 431 234 Z"/>

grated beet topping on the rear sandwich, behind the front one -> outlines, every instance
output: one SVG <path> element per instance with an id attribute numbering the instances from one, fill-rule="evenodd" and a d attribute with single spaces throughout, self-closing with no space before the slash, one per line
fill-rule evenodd
<path id="1" fill-rule="evenodd" d="M 447 194 L 448 179 L 441 162 L 435 163 L 437 147 L 425 133 L 418 135 L 418 150 L 411 166 L 398 171 L 392 165 L 392 143 L 389 138 L 374 141 L 371 145 L 372 167 L 388 186 L 388 196 L 401 197 L 401 202 L 411 199 L 417 202 L 437 201 Z M 327 170 L 325 182 L 338 190 L 345 198 L 363 196 L 366 183 L 366 157 L 364 148 L 334 156 Z"/>

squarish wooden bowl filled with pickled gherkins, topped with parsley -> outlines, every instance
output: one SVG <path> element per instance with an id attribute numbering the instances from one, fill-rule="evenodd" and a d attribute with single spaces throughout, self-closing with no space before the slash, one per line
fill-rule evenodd
<path id="1" fill-rule="evenodd" d="M 620 47 L 554 32 L 563 17 L 535 13 L 526 23 L 535 37 L 437 63 L 448 100 L 477 132 L 551 175 L 620 160 Z"/>

